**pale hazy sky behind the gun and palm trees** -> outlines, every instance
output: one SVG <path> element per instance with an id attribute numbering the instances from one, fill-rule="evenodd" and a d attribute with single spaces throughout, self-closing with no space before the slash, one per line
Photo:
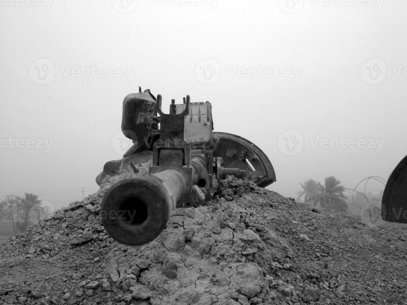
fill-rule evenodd
<path id="1" fill-rule="evenodd" d="M 120 159 L 123 98 L 212 103 L 271 160 L 268 188 L 387 180 L 407 154 L 403 0 L 0 0 L 0 197 L 56 208 Z M 126 150 L 126 149 L 125 149 Z M 383 188 L 372 182 L 368 188 Z"/>

